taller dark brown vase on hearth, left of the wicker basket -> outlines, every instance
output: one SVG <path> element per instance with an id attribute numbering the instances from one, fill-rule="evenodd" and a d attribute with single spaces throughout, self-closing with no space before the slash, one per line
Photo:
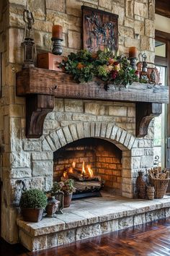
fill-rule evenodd
<path id="1" fill-rule="evenodd" d="M 143 175 L 143 171 L 138 171 L 138 177 L 136 179 L 136 190 L 138 193 L 138 198 L 146 198 L 146 176 Z"/>

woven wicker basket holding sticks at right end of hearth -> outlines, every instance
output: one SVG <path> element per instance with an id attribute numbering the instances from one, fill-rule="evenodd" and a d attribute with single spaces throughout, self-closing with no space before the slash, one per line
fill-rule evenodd
<path id="1" fill-rule="evenodd" d="M 169 179 L 153 179 L 150 177 L 151 186 L 155 188 L 155 198 L 163 198 L 169 185 Z"/>

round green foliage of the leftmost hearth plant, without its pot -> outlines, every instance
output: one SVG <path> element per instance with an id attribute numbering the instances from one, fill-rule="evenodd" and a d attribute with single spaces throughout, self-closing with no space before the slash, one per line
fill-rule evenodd
<path id="1" fill-rule="evenodd" d="M 47 197 L 40 189 L 29 189 L 22 193 L 21 208 L 40 209 L 47 205 Z"/>

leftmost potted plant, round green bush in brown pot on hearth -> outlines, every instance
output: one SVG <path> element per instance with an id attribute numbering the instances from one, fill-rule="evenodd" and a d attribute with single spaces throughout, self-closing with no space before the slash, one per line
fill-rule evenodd
<path id="1" fill-rule="evenodd" d="M 24 221 L 38 222 L 47 205 L 47 197 L 40 189 L 29 189 L 22 193 L 20 208 Z"/>

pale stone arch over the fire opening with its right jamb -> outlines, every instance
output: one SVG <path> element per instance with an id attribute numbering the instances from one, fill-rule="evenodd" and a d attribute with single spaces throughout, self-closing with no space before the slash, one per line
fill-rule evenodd
<path id="1" fill-rule="evenodd" d="M 42 141 L 42 150 L 55 152 L 59 148 L 76 140 L 96 137 L 112 142 L 122 150 L 122 196 L 133 197 L 133 170 L 131 149 L 135 145 L 135 137 L 114 123 L 80 121 L 50 132 Z"/>

